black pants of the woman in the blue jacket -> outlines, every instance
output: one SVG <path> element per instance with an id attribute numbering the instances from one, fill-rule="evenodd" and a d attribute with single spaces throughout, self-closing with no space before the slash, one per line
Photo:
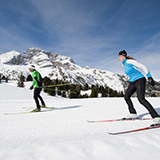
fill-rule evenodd
<path id="1" fill-rule="evenodd" d="M 152 118 L 159 117 L 157 112 L 154 110 L 152 105 L 145 99 L 145 86 L 146 86 L 146 79 L 141 78 L 134 82 L 131 82 L 128 86 L 128 89 L 125 93 L 125 101 L 128 104 L 128 109 L 130 113 L 136 113 L 136 110 L 133 107 L 133 103 L 130 99 L 132 94 L 136 91 L 137 92 L 137 98 L 139 102 L 149 111 Z"/>

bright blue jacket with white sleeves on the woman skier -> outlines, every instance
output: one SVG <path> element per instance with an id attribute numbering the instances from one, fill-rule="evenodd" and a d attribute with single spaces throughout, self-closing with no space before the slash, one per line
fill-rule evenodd
<path id="1" fill-rule="evenodd" d="M 147 69 L 147 67 L 144 66 L 143 64 L 137 62 L 136 60 L 125 59 L 122 62 L 122 64 L 123 64 L 124 72 L 129 77 L 129 82 L 134 82 L 134 81 L 144 77 L 144 75 L 142 74 L 140 69 L 142 69 L 144 71 L 144 73 L 146 74 L 146 76 L 148 78 L 152 77 L 149 70 Z"/>

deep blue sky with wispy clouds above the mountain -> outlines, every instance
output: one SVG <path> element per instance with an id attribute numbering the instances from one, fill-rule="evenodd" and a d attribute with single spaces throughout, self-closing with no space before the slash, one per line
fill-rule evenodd
<path id="1" fill-rule="evenodd" d="M 160 79 L 160 0 L 0 0 L 0 53 L 30 47 L 123 73 L 120 50 Z"/>

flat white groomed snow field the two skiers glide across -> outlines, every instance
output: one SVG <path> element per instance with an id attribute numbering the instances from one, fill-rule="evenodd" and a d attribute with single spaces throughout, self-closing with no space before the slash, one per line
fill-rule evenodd
<path id="1" fill-rule="evenodd" d="M 87 120 L 121 118 L 128 114 L 123 98 L 67 99 L 42 92 L 50 107 L 32 114 L 4 115 L 31 110 L 35 103 L 31 82 L 25 88 L 16 82 L 0 84 L 1 160 L 158 160 L 160 129 L 125 135 L 108 132 L 145 127 L 152 121 L 88 123 Z M 160 113 L 160 98 L 147 98 Z M 139 117 L 150 117 L 136 98 Z M 47 110 L 47 109 L 43 109 Z"/>

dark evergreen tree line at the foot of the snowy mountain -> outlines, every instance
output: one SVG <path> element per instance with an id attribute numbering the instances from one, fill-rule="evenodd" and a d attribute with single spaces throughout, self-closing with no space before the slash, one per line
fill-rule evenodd
<path id="1" fill-rule="evenodd" d="M 32 81 L 31 75 L 28 75 L 26 81 Z M 25 77 L 23 74 L 19 76 L 18 87 L 24 87 Z M 71 84 L 65 85 L 68 82 L 64 82 L 62 80 L 51 80 L 48 77 L 43 78 L 43 90 L 51 96 L 59 95 L 61 97 L 68 98 L 95 98 L 98 97 L 123 97 L 123 92 L 117 92 L 112 90 L 108 86 L 99 86 L 88 84 L 80 85 L 80 84 Z M 60 86 L 59 86 L 60 85 Z M 91 94 L 81 94 L 81 91 L 91 90 Z"/>

